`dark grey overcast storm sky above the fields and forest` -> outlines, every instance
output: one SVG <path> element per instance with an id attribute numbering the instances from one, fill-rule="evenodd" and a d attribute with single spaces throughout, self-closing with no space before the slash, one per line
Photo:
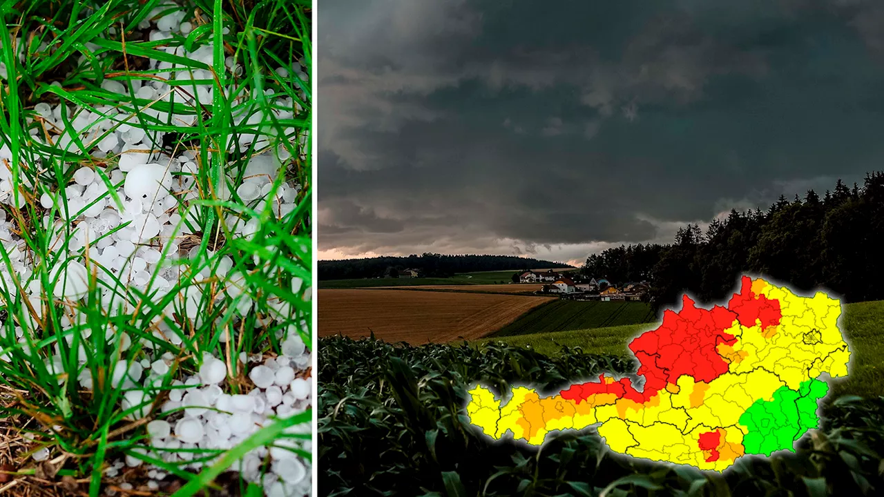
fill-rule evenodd
<path id="1" fill-rule="evenodd" d="M 582 262 L 884 169 L 880 0 L 320 0 L 320 258 Z"/>

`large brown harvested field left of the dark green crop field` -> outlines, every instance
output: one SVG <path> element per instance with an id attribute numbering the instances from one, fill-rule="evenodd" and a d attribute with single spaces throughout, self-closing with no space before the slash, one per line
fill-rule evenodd
<path id="1" fill-rule="evenodd" d="M 475 340 L 512 323 L 554 297 L 407 292 L 381 289 L 320 289 L 319 336 L 410 344 Z"/>

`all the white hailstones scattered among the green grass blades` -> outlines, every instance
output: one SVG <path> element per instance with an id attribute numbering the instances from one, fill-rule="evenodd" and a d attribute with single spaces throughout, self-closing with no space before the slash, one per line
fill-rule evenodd
<path id="1" fill-rule="evenodd" d="M 156 7 L 148 19 L 167 8 L 168 5 Z M 186 36 L 194 29 L 192 23 L 185 21 L 182 11 L 158 19 L 156 24 L 149 20 L 143 21 L 140 27 L 153 28 L 149 34 L 150 41 L 171 39 L 172 34 Z M 95 50 L 98 47 L 87 48 Z M 187 52 L 183 47 L 164 50 L 209 65 L 212 63 L 210 46 L 202 46 L 192 52 Z M 170 63 L 154 60 L 150 64 L 153 70 L 158 71 L 157 76 L 171 78 L 178 83 L 182 80 L 211 79 L 210 73 L 206 71 L 179 70 L 169 73 L 163 70 L 175 69 Z M 226 65 L 231 74 L 236 74 L 241 69 L 232 57 L 228 57 Z M 307 80 L 303 67 L 296 71 L 302 80 Z M 277 73 L 283 77 L 287 75 L 285 68 L 278 68 Z M 139 99 L 174 100 L 176 103 L 189 105 L 210 104 L 215 91 L 210 85 L 194 89 L 193 86 L 171 86 L 163 80 L 149 78 L 131 80 L 129 83 Z M 104 80 L 102 88 L 118 93 L 124 99 L 129 97 L 128 89 L 119 81 Z M 182 91 L 182 88 L 186 91 Z M 225 92 L 228 90 L 232 92 L 232 88 L 227 88 Z M 291 97 L 285 96 L 284 92 L 280 94 L 281 96 L 274 96 L 271 89 L 265 91 L 265 96 L 271 100 L 272 112 L 276 119 L 293 119 L 295 113 L 300 111 L 299 105 Z M 301 98 L 306 96 L 301 95 Z M 254 101 L 254 95 L 244 95 L 234 100 L 241 110 L 234 110 L 232 125 L 250 126 L 256 131 L 240 134 L 238 142 L 231 140 L 228 143 L 228 149 L 233 152 L 248 149 L 254 144 L 259 153 L 246 160 L 244 180 L 240 184 L 234 184 L 235 174 L 230 171 L 222 178 L 215 196 L 227 201 L 232 200 L 232 194 L 236 192 L 242 202 L 248 204 L 252 210 L 260 212 L 269 207 L 278 218 L 282 218 L 295 209 L 295 199 L 301 186 L 284 183 L 271 196 L 273 181 L 278 175 L 280 165 L 290 158 L 281 141 L 301 141 L 304 144 L 308 136 L 296 134 L 294 128 L 286 129 L 285 136 L 278 136 L 274 135 L 274 129 L 260 126 L 267 120 L 267 116 L 262 111 L 249 110 L 248 103 Z M 154 108 L 156 106 L 144 108 L 144 103 L 139 104 L 139 107 L 145 115 L 160 123 L 196 125 L 194 115 L 159 111 Z M 180 281 L 187 281 L 189 284 L 176 290 L 178 294 L 165 310 L 166 316 L 171 316 L 173 310 L 183 309 L 185 316 L 199 325 L 204 318 L 202 302 L 209 298 L 215 299 L 217 306 L 240 297 L 237 304 L 240 316 L 253 310 L 253 302 L 248 298 L 248 283 L 243 275 L 232 271 L 233 263 L 229 257 L 224 256 L 217 260 L 217 257 L 213 259 L 214 254 L 211 251 L 200 255 L 195 249 L 187 252 L 179 248 L 182 237 L 201 229 L 197 220 L 198 210 L 190 201 L 209 196 L 207 193 L 201 194 L 196 185 L 196 176 L 202 170 L 196 150 L 181 149 L 170 154 L 156 149 L 153 144 L 163 141 L 162 132 L 139 127 L 138 119 L 133 119 L 131 113 L 120 111 L 118 106 L 110 104 L 89 111 L 64 102 L 56 105 L 39 103 L 34 111 L 37 117 L 31 119 L 32 122 L 37 120 L 40 123 L 37 127 L 45 130 L 46 134 L 40 129 L 32 128 L 31 141 L 50 141 L 52 146 L 70 150 L 72 153 L 79 151 L 76 142 L 80 141 L 92 157 L 99 159 L 95 161 L 99 165 L 74 166 L 76 169 L 72 173 L 72 181 L 64 189 L 34 184 L 24 175 L 19 178 L 21 187 L 38 199 L 45 209 L 40 221 L 50 233 L 54 233 L 50 239 L 50 252 L 61 255 L 50 268 L 50 278 L 57 279 L 53 296 L 72 304 L 69 306 L 72 313 L 62 318 L 62 325 L 70 328 L 81 322 L 83 316 L 77 310 L 76 304 L 88 294 L 88 278 L 89 273 L 94 271 L 93 264 L 103 268 L 95 273 L 98 279 L 107 283 L 100 284 L 99 288 L 103 309 L 110 313 L 134 310 L 139 300 L 131 292 L 133 289 L 141 294 L 151 295 L 155 302 L 160 302 Z M 70 127 L 65 126 L 63 114 L 69 119 Z M 0 148 L 0 159 L 11 161 L 11 157 L 8 147 Z M 34 166 L 43 167 L 39 161 Z M 122 206 L 111 200 L 109 183 L 110 187 L 116 188 L 115 193 L 122 201 Z M 25 205 L 25 195 L 19 194 L 16 197 L 12 193 L 13 187 L 17 185 L 12 184 L 11 172 L 0 167 L 0 203 L 21 208 Z M 244 238 L 256 233 L 260 227 L 255 219 L 241 218 L 231 212 L 225 213 L 223 222 L 233 236 Z M 127 226 L 117 229 L 126 223 Z M 0 265 L 0 278 L 6 281 L 8 288 L 14 288 L 11 275 L 11 271 L 14 271 L 20 281 L 27 282 L 25 294 L 21 298 L 29 299 L 34 304 L 34 310 L 39 312 L 42 310 L 42 288 L 39 279 L 32 278 L 33 257 L 26 253 L 27 246 L 3 210 L 0 210 L 0 242 L 4 244 L 11 261 L 11 264 Z M 88 260 L 84 255 L 88 255 Z M 168 264 L 180 257 L 194 256 L 201 256 L 202 260 L 194 261 L 190 266 Z M 210 264 L 210 261 L 214 262 Z M 257 264 L 259 261 L 255 262 Z M 210 293 L 208 285 L 199 284 L 211 276 L 221 279 L 221 291 L 215 288 Z M 119 287 L 118 281 L 124 287 Z M 304 290 L 305 300 L 309 299 L 310 289 L 302 287 L 303 282 L 295 279 L 291 290 L 294 293 Z M 262 325 L 272 325 L 275 319 L 288 319 L 295 312 L 287 302 L 272 302 L 271 299 L 270 307 L 271 315 L 266 319 L 259 319 Z M 24 334 L 38 325 L 33 318 L 26 324 L 19 324 L 16 327 L 19 342 L 27 344 Z M 156 329 L 154 335 L 157 338 L 168 340 L 176 346 L 181 343 L 181 337 L 171 333 L 171 328 L 165 325 L 161 317 L 157 317 L 151 325 Z M 238 358 L 240 363 L 250 368 L 248 377 L 255 385 L 254 389 L 245 394 L 232 394 L 230 388 L 225 387 L 225 379 L 232 376 L 233 371 L 227 371 L 227 365 L 222 359 L 208 354 L 203 356 L 197 375 L 171 382 L 169 400 L 160 409 L 162 413 L 170 414 L 153 414 L 157 418 L 148 424 L 150 445 L 143 447 L 144 452 L 158 455 L 166 462 L 181 463 L 186 468 L 199 470 L 204 464 L 211 463 L 194 461 L 194 458 L 203 457 L 199 454 L 199 449 L 233 447 L 267 424 L 271 417 L 293 416 L 308 409 L 310 380 L 299 375 L 307 369 L 310 353 L 297 329 L 306 325 L 306 322 L 290 325 L 285 333 L 278 333 L 278 339 L 283 344 L 281 356 L 267 360 L 260 356 Z M 88 330 L 83 333 L 88 333 Z M 114 333 L 109 330 L 108 338 L 113 337 Z M 70 336 L 68 338 L 72 339 Z M 225 334 L 222 341 L 227 340 L 235 340 L 235 336 Z M 174 359 L 168 352 L 161 354 L 149 340 L 142 340 L 141 344 L 145 358 L 132 363 L 121 361 L 113 370 L 112 383 L 127 389 L 122 401 L 123 409 L 135 408 L 156 396 L 156 386 L 162 385 L 168 379 L 166 376 Z M 120 347 L 126 350 L 131 346 L 129 337 L 122 335 Z M 55 354 L 56 356 L 46 359 L 46 363 L 48 367 L 55 368 L 54 371 L 61 372 L 62 361 L 61 356 L 58 356 L 58 348 Z M 86 362 L 83 350 L 80 351 L 80 361 Z M 84 368 L 78 379 L 80 386 L 92 387 L 88 369 Z M 181 407 L 184 408 L 183 411 L 175 410 Z M 136 409 L 133 414 L 138 418 L 148 416 L 149 403 L 143 409 Z M 299 431 L 309 433 L 309 424 L 292 429 L 292 432 Z M 277 445 L 282 447 L 255 449 L 232 470 L 240 471 L 242 477 L 249 481 L 261 479 L 267 495 L 281 497 L 309 494 L 309 462 L 286 450 L 286 447 L 297 447 L 309 452 L 309 441 L 289 438 L 279 440 Z M 174 449 L 194 451 L 171 452 Z M 41 451 L 34 456 L 40 458 L 46 455 L 48 454 Z M 263 464 L 265 461 L 270 461 L 269 468 Z M 124 463 L 135 466 L 141 464 L 141 460 L 130 456 Z M 107 470 L 109 476 L 118 472 L 124 463 L 111 465 Z M 164 477 L 158 468 L 151 469 L 149 474 L 154 477 L 151 486 L 156 486 L 154 480 Z"/>

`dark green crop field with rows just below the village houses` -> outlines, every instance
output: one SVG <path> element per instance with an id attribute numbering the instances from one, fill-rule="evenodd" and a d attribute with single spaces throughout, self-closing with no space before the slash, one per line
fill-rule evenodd
<path id="1" fill-rule="evenodd" d="M 501 328 L 494 336 L 554 333 L 607 326 L 638 325 L 657 320 L 644 302 L 550 302 Z"/>

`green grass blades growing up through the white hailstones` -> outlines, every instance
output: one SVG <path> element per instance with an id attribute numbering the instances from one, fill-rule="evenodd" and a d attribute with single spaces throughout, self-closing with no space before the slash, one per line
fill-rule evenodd
<path id="1" fill-rule="evenodd" d="M 182 38 L 149 42 L 144 32 L 137 28 L 159 5 L 166 10 L 184 9 L 186 19 L 194 22 L 194 31 Z M 27 279 L 4 281 L 0 285 L 0 307 L 5 316 L 0 329 L 0 424 L 4 428 L 4 440 L 0 440 L 0 493 L 26 494 L 34 490 L 34 480 L 47 492 L 70 491 L 97 496 L 104 491 L 103 467 L 108 461 L 129 455 L 147 457 L 134 450 L 144 442 L 144 428 L 152 417 L 159 416 L 155 410 L 166 392 L 151 391 L 151 409 L 148 417 L 127 420 L 126 417 L 144 406 L 134 406 L 124 411 L 120 399 L 121 387 L 104 381 L 110 376 L 114 364 L 123 360 L 133 363 L 143 357 L 144 340 L 164 348 L 175 356 L 173 371 L 193 372 L 202 361 L 203 352 L 212 352 L 228 361 L 240 352 L 248 354 L 278 353 L 275 334 L 279 330 L 297 329 L 305 343 L 310 343 L 312 332 L 301 324 L 309 323 L 309 284 L 292 290 L 293 281 L 309 281 L 311 274 L 310 211 L 311 152 L 310 141 L 303 139 L 310 133 L 310 86 L 295 71 L 300 67 L 299 58 L 310 65 L 311 49 L 309 34 L 309 2 L 284 0 L 265 1 L 260 4 L 222 2 L 221 0 L 194 0 L 193 2 L 158 2 L 156 0 L 111 0 L 110 2 L 81 0 L 36 0 L 0 6 L 4 22 L 0 23 L 0 61 L 8 77 L 4 78 L 0 92 L 0 137 L 4 147 L 11 150 L 8 161 L 13 185 L 27 183 L 36 192 L 29 195 L 27 189 L 18 189 L 13 195 L 17 207 L 9 207 L 6 213 L 16 223 L 24 247 L 35 261 L 34 272 Z M 187 57 L 177 57 L 159 50 L 164 46 L 200 46 L 213 48 L 212 63 Z M 225 58 L 241 61 L 241 73 L 225 70 Z M 208 105 L 182 102 L 144 101 L 134 95 L 120 95 L 101 87 L 103 80 L 115 80 L 126 85 L 132 80 L 148 80 L 157 71 L 145 70 L 146 58 L 178 65 L 178 70 L 204 70 L 212 75 L 210 80 L 193 82 L 195 86 L 208 85 L 215 88 L 231 88 L 229 93 L 215 91 Z M 283 66 L 291 70 L 286 77 L 273 71 Z M 309 69 L 310 71 L 310 69 Z M 69 73 L 70 72 L 70 73 Z M 162 73 L 162 71 L 160 71 Z M 160 76 L 162 77 L 162 76 Z M 184 85 L 182 85 L 184 86 Z M 271 95 L 293 96 L 301 111 L 293 119 L 269 119 L 258 125 L 241 125 L 232 122 L 234 115 L 246 113 L 268 115 Z M 302 99 L 301 94 L 307 98 Z M 243 96 L 252 96 L 243 99 Z M 173 141 L 154 143 L 155 149 L 181 149 L 192 147 L 198 153 L 199 172 L 195 174 L 199 189 L 198 200 L 191 203 L 197 210 L 191 222 L 197 226 L 200 236 L 195 238 L 187 258 L 179 259 L 186 276 L 171 288 L 169 295 L 186 292 L 193 285 L 205 285 L 199 272 L 208 270 L 215 274 L 222 258 L 232 261 L 231 271 L 244 275 L 245 290 L 231 301 L 216 302 L 217 293 L 210 292 L 198 303 L 199 320 L 186 316 L 184 304 L 174 296 L 160 299 L 150 294 L 127 294 L 118 279 L 111 278 L 120 301 L 108 303 L 99 298 L 106 289 L 103 282 L 95 279 L 95 271 L 103 271 L 88 260 L 88 251 L 75 255 L 85 261 L 93 276 L 88 295 L 75 305 L 85 316 L 85 322 L 70 325 L 65 322 L 72 302 L 55 297 L 60 285 L 50 268 L 61 252 L 53 253 L 48 247 L 54 237 L 61 236 L 65 243 L 71 240 L 72 230 L 66 226 L 63 233 L 34 223 L 46 212 L 40 206 L 41 192 L 64 189 L 71 180 L 72 171 L 81 165 L 95 165 L 88 148 L 74 140 L 67 149 L 60 145 L 38 143 L 33 136 L 45 133 L 40 129 L 39 119 L 28 122 L 34 116 L 34 104 L 39 102 L 65 103 L 80 111 L 91 111 L 99 120 L 125 119 L 138 123 L 149 131 L 167 133 Z M 116 113 L 110 116 L 107 107 Z M 172 109 L 175 113 L 196 116 L 196 126 L 181 126 L 174 121 L 156 119 L 148 109 Z M 67 119 L 65 117 L 65 119 Z M 122 121 L 115 120 L 114 128 Z M 36 128 L 36 129 L 34 129 Z M 262 150 L 252 145 L 245 149 L 229 151 L 227 143 L 242 134 L 266 134 L 275 138 L 269 146 L 281 146 L 288 150 L 291 159 L 279 171 L 274 188 L 283 180 L 302 185 L 297 197 L 297 208 L 284 218 L 276 218 L 270 210 L 249 209 L 238 195 L 221 200 L 217 195 L 222 187 L 220 181 L 229 174 L 235 181 L 242 180 L 242 171 L 248 158 Z M 6 162 L 6 161 L 4 161 Z M 37 169 L 36 164 L 42 164 Z M 116 157 L 101 161 L 110 171 L 116 166 Z M 118 185 L 103 180 L 115 192 Z M 235 185 L 234 185 L 235 189 Z M 274 190 L 275 191 L 275 190 Z M 111 202 L 119 203 L 117 195 Z M 272 194 L 271 194 L 272 195 Z M 53 208 L 55 209 L 55 208 Z M 67 205 L 63 206 L 67 209 Z M 258 230 L 244 239 L 232 236 L 221 219 L 240 216 L 254 220 Z M 217 243 L 225 240 L 223 245 Z M 0 264 L 10 264 L 9 247 L 0 247 Z M 161 264 L 167 261 L 164 252 Z M 171 261 L 170 261 L 171 262 Z M 22 289 L 36 282 L 42 293 L 34 301 L 23 299 Z M 217 286 L 217 282 L 215 283 Z M 217 286 L 217 291 L 220 291 Z M 155 298 L 156 297 L 156 298 Z M 225 297 L 226 298 L 226 297 Z M 233 308 L 245 299 L 254 302 L 254 312 L 237 316 Z M 220 300 L 220 299 L 219 299 Z M 121 301 L 129 302 L 127 311 L 118 312 Z M 133 305 L 137 302 L 137 305 Z M 262 325 L 261 319 L 274 312 L 273 305 L 287 302 L 291 312 L 275 321 L 275 325 Z M 125 308 L 125 306 L 124 306 Z M 180 346 L 172 346 L 153 335 L 155 325 L 162 321 L 170 333 L 178 335 Z M 230 333 L 231 326 L 239 327 L 239 340 L 226 345 L 219 340 L 222 333 Z M 91 339 L 90 337 L 91 333 Z M 24 336 L 24 342 L 18 340 Z M 96 337 L 109 337 L 99 340 Z M 124 339 L 125 337 L 125 339 Z M 133 343 L 128 347 L 126 342 Z M 78 355 L 85 354 L 81 363 Z M 60 363 L 52 363 L 60 357 Z M 95 378 L 93 392 L 78 385 L 77 378 L 88 370 Z M 241 376 L 244 371 L 234 371 Z M 240 378 L 241 379 L 241 378 Z M 236 378 L 231 378 L 235 382 Z M 168 386 L 168 385 L 165 385 Z M 162 389 L 161 389 L 162 390 Z M 309 423 L 309 416 L 286 421 L 291 424 Z M 279 426 L 268 426 L 258 432 L 260 441 L 267 441 Z M 263 437 L 263 438 L 262 438 Z M 254 445 L 255 440 L 247 440 Z M 178 470 L 171 464 L 153 461 L 186 482 L 180 495 L 190 495 L 211 486 L 212 479 L 220 470 L 246 450 L 234 447 L 228 456 L 222 457 L 216 466 L 201 475 Z M 47 464 L 34 464 L 30 455 L 40 449 L 49 449 Z M 217 454 L 212 454 L 217 455 Z M 11 481 L 10 481 L 11 480 Z M 189 483 L 187 483 L 189 482 Z M 14 488 L 10 485 L 18 484 Z M 79 493 L 78 493 L 79 494 Z"/>

